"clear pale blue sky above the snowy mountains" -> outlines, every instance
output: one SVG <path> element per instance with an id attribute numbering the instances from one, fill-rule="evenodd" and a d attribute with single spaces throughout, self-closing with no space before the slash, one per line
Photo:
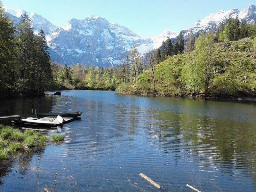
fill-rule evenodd
<path id="1" fill-rule="evenodd" d="M 198 19 L 221 9 L 244 9 L 255 0 L 3 0 L 6 7 L 36 12 L 53 24 L 64 26 L 70 19 L 99 15 L 131 29 L 143 38 L 164 29 L 180 31 Z"/>

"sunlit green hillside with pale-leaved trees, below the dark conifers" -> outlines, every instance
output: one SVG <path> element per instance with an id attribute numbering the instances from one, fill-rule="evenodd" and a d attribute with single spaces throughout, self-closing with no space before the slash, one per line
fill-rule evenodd
<path id="1" fill-rule="evenodd" d="M 204 96 L 207 89 L 209 97 L 255 96 L 256 48 L 253 40 L 244 38 L 226 45 L 214 44 L 215 39 L 211 33 L 200 34 L 194 51 L 174 55 L 156 65 L 156 95 Z M 144 70 L 137 77 L 136 87 L 126 83 L 119 85 L 116 91 L 152 94 L 151 74 L 151 69 Z"/>

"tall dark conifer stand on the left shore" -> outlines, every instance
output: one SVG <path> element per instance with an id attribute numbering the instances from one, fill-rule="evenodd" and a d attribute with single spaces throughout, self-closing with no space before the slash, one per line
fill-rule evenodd
<path id="1" fill-rule="evenodd" d="M 0 6 L 0 44 L 0 96 L 42 94 L 52 86 L 44 31 L 34 35 L 26 12 L 15 26 Z"/>

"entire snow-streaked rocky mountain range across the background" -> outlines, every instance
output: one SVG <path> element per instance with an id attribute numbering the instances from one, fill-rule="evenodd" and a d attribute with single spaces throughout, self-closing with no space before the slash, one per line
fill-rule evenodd
<path id="1" fill-rule="evenodd" d="M 20 21 L 24 11 L 5 8 L 7 14 L 15 21 Z M 52 24 L 36 13 L 27 13 L 33 21 L 35 34 L 43 28 L 50 47 L 52 61 L 62 64 L 84 63 L 96 66 L 114 66 L 122 56 L 127 56 L 132 46 L 136 46 L 141 54 L 161 46 L 162 41 L 170 37 L 175 42 L 178 33 L 164 30 L 159 36 L 143 39 L 128 28 L 110 23 L 99 16 L 89 16 L 83 20 L 71 19 L 64 27 Z M 256 23 L 256 7 L 249 5 L 245 9 L 220 10 L 198 20 L 192 27 L 182 30 L 184 37 L 188 34 L 198 36 L 202 30 L 214 30 L 229 17 L 241 21 Z"/>

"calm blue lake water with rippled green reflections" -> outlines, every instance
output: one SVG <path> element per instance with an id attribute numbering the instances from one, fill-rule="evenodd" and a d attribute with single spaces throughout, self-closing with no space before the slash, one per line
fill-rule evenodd
<path id="1" fill-rule="evenodd" d="M 0 162 L 4 192 L 50 188 L 56 172 L 56 192 L 193 191 L 186 184 L 203 192 L 256 191 L 253 103 L 62 91 L 0 106 L 0 115 L 83 111 L 63 128 L 42 130 L 65 134 L 64 143 L 26 151 L 7 167 Z"/>

